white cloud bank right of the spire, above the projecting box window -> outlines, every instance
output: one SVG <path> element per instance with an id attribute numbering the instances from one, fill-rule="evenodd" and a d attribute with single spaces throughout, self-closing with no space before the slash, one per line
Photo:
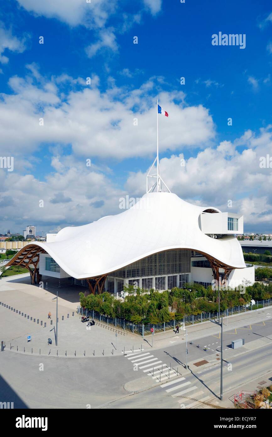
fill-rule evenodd
<path id="1" fill-rule="evenodd" d="M 246 149 L 239 152 L 237 146 Z M 161 175 L 169 189 L 191 203 L 215 206 L 244 214 L 245 225 L 252 229 L 272 231 L 272 173 L 260 168 L 260 158 L 272 157 L 272 126 L 260 130 L 259 135 L 248 130 L 233 143 L 223 141 L 216 148 L 200 151 L 181 166 L 182 153 L 160 160 Z M 126 189 L 135 196 L 145 186 L 145 172 L 131 172 Z M 264 228 L 265 226 L 265 228 Z"/>

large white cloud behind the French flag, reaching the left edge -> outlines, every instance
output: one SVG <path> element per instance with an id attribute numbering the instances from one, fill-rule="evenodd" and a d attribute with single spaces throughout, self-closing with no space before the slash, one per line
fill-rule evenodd
<path id="1" fill-rule="evenodd" d="M 37 77 L 37 72 L 35 76 Z M 62 78 L 63 80 L 63 78 Z M 92 86 L 62 93 L 62 80 L 45 78 L 40 83 L 32 76 L 13 76 L 12 94 L 0 100 L 0 136 L 3 150 L 32 153 L 43 143 L 72 145 L 81 156 L 124 159 L 151 156 L 155 152 L 156 122 L 155 78 L 134 90 L 111 86 L 101 92 L 94 76 Z M 69 87 L 71 80 L 65 78 Z M 186 106 L 181 91 L 159 93 L 159 101 L 169 118 L 159 116 L 161 150 L 201 147 L 213 139 L 214 125 L 207 108 Z M 179 104 L 177 102 L 180 102 Z M 39 125 L 39 119 L 44 125 Z M 135 119 L 138 119 L 138 125 Z"/>

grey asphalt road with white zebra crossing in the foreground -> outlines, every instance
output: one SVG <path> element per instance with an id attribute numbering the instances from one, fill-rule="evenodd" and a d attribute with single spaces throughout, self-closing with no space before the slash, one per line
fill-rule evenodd
<path id="1" fill-rule="evenodd" d="M 206 407 L 205 402 L 219 407 L 218 337 L 215 333 L 188 344 L 189 372 L 184 369 L 185 342 L 178 338 L 177 343 L 154 350 L 145 342 L 142 351 L 115 357 L 39 357 L 5 350 L 0 353 L 0 401 L 14 402 L 14 408 L 186 409 Z M 234 356 L 239 350 L 229 345 L 239 337 L 246 339 L 245 347 L 249 348 L 258 338 L 258 349 L 245 351 L 244 347 Z M 241 384 L 272 373 L 270 315 L 265 314 L 262 322 L 237 328 L 236 333 L 233 328 L 224 330 L 223 349 L 224 393 L 228 399 L 230 391 Z M 203 358 L 209 363 L 198 368 L 193 365 Z M 124 388 L 128 384 L 137 386 L 139 380 L 146 384 L 143 391 L 132 395 Z"/>

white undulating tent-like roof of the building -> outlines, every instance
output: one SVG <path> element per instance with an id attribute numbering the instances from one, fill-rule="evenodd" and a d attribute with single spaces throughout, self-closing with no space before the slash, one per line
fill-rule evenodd
<path id="1" fill-rule="evenodd" d="M 78 279 L 107 274 L 169 249 L 196 250 L 227 266 L 245 267 L 234 236 L 213 239 L 200 230 L 199 216 L 207 208 L 211 207 L 191 205 L 173 193 L 148 193 L 121 214 L 64 228 L 55 242 L 35 244 Z"/>

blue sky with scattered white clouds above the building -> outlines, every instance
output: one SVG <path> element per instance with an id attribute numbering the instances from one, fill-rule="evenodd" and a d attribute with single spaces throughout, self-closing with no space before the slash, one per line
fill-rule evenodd
<path id="1" fill-rule="evenodd" d="M 245 48 L 213 46 L 220 31 L 245 34 Z M 269 1 L 3 3 L 0 154 L 14 156 L 14 171 L 0 169 L 0 232 L 54 232 L 141 196 L 157 94 L 171 191 L 222 211 L 231 199 L 245 231 L 272 232 L 271 169 L 259 165 L 272 156 L 271 66 Z"/>

